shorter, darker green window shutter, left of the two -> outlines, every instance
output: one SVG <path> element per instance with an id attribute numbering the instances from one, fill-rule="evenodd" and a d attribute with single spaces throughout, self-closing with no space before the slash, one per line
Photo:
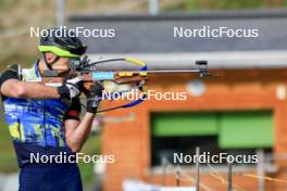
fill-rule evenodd
<path id="1" fill-rule="evenodd" d="M 217 135 L 215 113 L 154 113 L 151 115 L 152 135 L 209 136 Z"/>

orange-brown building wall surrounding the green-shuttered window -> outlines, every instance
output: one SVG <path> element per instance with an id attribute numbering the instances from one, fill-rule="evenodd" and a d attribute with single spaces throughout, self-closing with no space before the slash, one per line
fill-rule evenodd
<path id="1" fill-rule="evenodd" d="M 276 89 L 278 85 L 287 87 L 287 71 L 225 71 L 222 78 L 204 78 L 208 88 L 203 96 L 194 98 L 190 94 L 186 101 L 146 101 L 132 109 L 116 110 L 109 115 L 125 116 L 134 112 L 134 122 L 121 124 L 105 124 L 102 136 L 103 154 L 114 154 L 115 163 L 108 164 L 104 177 L 104 191 L 120 191 L 122 180 L 128 177 L 161 182 L 159 176 L 148 177 L 150 169 L 150 112 L 167 111 L 238 111 L 238 110 L 273 110 L 274 111 L 274 153 L 287 153 L 287 100 L 278 100 Z M 161 75 L 151 76 L 149 89 L 157 91 L 186 91 L 186 84 L 191 75 Z M 104 103 L 104 106 L 118 105 Z M 287 170 L 283 162 L 280 171 L 272 175 L 286 178 Z M 255 190 L 257 179 L 234 176 L 234 183 L 246 190 Z M 213 189 L 226 189 L 210 176 L 204 176 L 201 182 Z M 175 184 L 174 177 L 170 177 L 169 184 Z M 191 182 L 186 182 L 192 184 Z M 282 190 L 286 183 L 267 183 L 267 190 Z M 276 189 L 277 188 L 277 189 Z M 279 189 L 280 188 L 280 189 Z M 287 187 L 286 187 L 287 188 Z"/>

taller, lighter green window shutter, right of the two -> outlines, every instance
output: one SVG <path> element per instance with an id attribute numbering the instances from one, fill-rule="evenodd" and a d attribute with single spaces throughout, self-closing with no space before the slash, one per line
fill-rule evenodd
<path id="1" fill-rule="evenodd" d="M 272 148 L 273 115 L 270 111 L 222 113 L 219 144 L 227 148 Z"/>

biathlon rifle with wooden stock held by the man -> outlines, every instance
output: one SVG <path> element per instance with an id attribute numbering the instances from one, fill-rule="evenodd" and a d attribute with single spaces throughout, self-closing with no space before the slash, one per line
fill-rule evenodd
<path id="1" fill-rule="evenodd" d="M 139 66 L 138 71 L 98 71 L 97 65 L 102 63 L 111 63 L 111 62 L 126 62 L 129 64 L 135 64 Z M 63 81 L 67 78 L 72 77 L 82 77 L 84 80 L 84 86 L 87 90 L 90 89 L 92 85 L 96 82 L 102 84 L 103 81 L 114 81 L 117 85 L 124 84 L 135 84 L 140 91 L 144 91 L 144 87 L 146 86 L 146 81 L 148 79 L 149 74 L 176 74 L 176 73 L 190 73 L 198 74 L 199 77 L 208 77 L 213 76 L 208 71 L 208 62 L 207 61 L 196 61 L 197 68 L 196 69 L 182 69 L 182 71 L 148 71 L 148 66 L 145 62 L 139 61 L 137 59 L 126 58 L 126 59 L 110 59 L 102 60 L 98 62 L 90 62 L 88 56 L 85 55 L 82 60 L 79 59 L 71 59 L 70 60 L 70 72 L 66 77 L 60 77 L 59 72 L 66 71 L 66 68 L 53 68 L 46 69 L 42 74 L 42 77 L 33 80 L 26 81 L 37 81 L 46 86 L 59 87 L 63 84 Z M 25 69 L 22 69 L 25 72 Z M 123 93 L 126 92 L 115 92 Z M 129 102 L 124 105 L 115 106 L 112 109 L 105 109 L 99 112 L 107 112 L 120 107 L 130 107 L 141 103 L 144 99 L 138 99 L 133 102 Z"/>

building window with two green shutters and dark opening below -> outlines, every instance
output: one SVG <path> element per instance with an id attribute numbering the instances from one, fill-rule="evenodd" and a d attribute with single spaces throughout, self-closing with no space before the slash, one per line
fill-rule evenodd
<path id="1" fill-rule="evenodd" d="M 210 155 L 254 155 L 271 152 L 274 143 L 272 111 L 184 112 L 151 114 L 151 164 L 174 153 L 195 155 L 195 148 Z"/>

